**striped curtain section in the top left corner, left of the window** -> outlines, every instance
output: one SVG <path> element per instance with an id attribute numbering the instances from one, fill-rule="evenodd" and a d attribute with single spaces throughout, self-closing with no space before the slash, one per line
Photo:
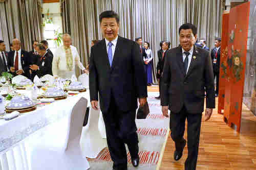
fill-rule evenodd
<path id="1" fill-rule="evenodd" d="M 6 43 L 9 50 L 13 38 L 22 42 L 22 48 L 32 49 L 32 40 L 40 40 L 41 1 L 15 0 L 0 3 L 0 39 Z"/>

